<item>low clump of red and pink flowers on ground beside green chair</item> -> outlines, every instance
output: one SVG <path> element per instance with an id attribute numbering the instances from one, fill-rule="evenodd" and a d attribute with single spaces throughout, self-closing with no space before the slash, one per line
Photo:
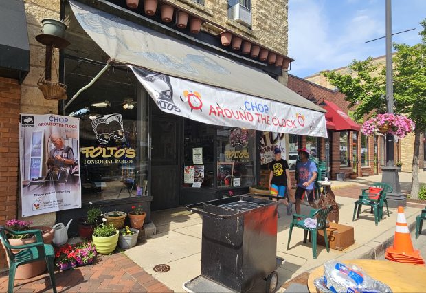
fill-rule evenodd
<path id="1" fill-rule="evenodd" d="M 90 265 L 95 261 L 96 255 L 96 248 L 91 241 L 83 241 L 73 245 L 64 244 L 55 248 L 55 265 L 60 270 Z"/>

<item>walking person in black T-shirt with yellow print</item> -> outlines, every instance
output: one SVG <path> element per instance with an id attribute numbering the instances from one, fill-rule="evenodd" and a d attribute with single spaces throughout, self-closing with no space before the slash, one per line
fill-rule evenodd
<path id="1" fill-rule="evenodd" d="M 275 160 L 269 164 L 269 191 L 271 195 L 276 195 L 282 197 L 284 205 L 287 207 L 287 215 L 291 215 L 291 202 L 286 198 L 287 195 L 287 186 L 291 189 L 291 179 L 289 174 L 289 164 L 286 160 L 281 158 L 280 148 L 276 148 L 275 151 Z"/>

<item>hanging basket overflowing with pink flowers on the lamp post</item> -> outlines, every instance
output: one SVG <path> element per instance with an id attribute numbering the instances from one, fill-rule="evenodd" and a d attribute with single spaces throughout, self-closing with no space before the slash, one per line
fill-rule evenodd
<path id="1" fill-rule="evenodd" d="M 414 127 L 414 122 L 405 116 L 385 113 L 364 122 L 361 132 L 364 135 L 391 133 L 398 138 L 405 138 L 408 133 L 414 131 Z"/>

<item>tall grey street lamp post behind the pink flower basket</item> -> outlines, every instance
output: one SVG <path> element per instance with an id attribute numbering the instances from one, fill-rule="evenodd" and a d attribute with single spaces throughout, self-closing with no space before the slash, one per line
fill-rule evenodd
<path id="1" fill-rule="evenodd" d="M 394 83 L 392 69 L 392 5 L 386 0 L 386 100 L 388 113 L 394 113 Z M 386 135 L 386 166 L 382 169 L 381 182 L 392 186 L 386 198 L 390 207 L 406 206 L 407 198 L 401 193 L 398 169 L 394 164 L 394 135 Z"/>

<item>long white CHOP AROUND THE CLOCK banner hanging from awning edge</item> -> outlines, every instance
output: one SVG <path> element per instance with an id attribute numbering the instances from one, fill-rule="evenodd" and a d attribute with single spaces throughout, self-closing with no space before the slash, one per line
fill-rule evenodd
<path id="1" fill-rule="evenodd" d="M 324 113 L 129 67 L 166 113 L 206 124 L 327 137 Z"/>

